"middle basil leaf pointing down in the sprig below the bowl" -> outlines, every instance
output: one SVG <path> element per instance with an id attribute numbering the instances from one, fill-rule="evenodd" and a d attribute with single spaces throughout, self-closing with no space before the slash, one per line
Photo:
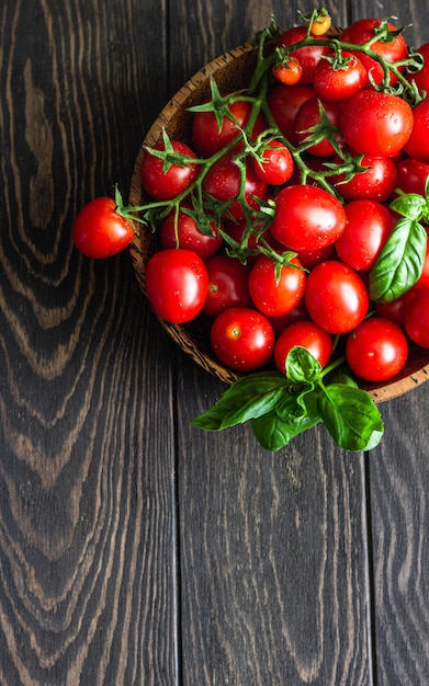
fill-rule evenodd
<path id="1" fill-rule="evenodd" d="M 252 420 L 251 427 L 262 448 L 275 451 L 284 448 L 292 438 L 312 428 L 319 421 L 320 418 L 312 419 L 307 415 L 283 418 L 272 410 Z"/>

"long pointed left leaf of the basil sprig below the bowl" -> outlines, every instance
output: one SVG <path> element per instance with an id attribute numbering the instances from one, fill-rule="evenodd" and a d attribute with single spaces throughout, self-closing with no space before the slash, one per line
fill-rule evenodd
<path id="1" fill-rule="evenodd" d="M 216 404 L 191 421 L 205 431 L 222 431 L 271 412 L 290 385 L 280 371 L 259 371 L 235 381 Z"/>

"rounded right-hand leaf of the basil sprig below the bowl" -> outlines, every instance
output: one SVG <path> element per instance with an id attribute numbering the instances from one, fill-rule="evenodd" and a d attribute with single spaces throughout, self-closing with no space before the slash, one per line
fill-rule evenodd
<path id="1" fill-rule="evenodd" d="M 371 450 L 383 436 L 383 420 L 372 398 L 343 384 L 326 386 L 318 400 L 330 435 L 346 450 Z"/>

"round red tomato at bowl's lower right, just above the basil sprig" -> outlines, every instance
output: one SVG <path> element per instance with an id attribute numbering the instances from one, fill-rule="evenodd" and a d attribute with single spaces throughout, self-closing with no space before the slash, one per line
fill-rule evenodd
<path id="1" fill-rule="evenodd" d="M 385 381 L 398 374 L 408 356 L 404 332 L 388 319 L 370 317 L 349 334 L 346 359 L 350 369 L 366 381 Z"/>

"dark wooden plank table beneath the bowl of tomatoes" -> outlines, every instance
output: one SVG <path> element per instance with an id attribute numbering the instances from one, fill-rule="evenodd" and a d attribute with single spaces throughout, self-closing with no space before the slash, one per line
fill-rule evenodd
<path id="1" fill-rule="evenodd" d="M 426 3 L 327 2 L 337 25 Z M 126 194 L 146 130 L 202 65 L 298 2 L 3 0 L 0 683 L 429 683 L 429 387 L 347 454 L 190 420 L 224 386 L 174 346 L 127 253 L 78 209 Z"/>

